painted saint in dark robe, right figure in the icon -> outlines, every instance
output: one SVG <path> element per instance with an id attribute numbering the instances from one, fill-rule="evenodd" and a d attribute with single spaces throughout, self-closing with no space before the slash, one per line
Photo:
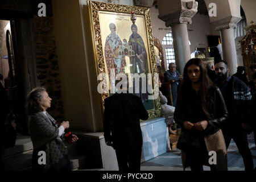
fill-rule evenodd
<path id="1" fill-rule="evenodd" d="M 130 57 L 131 73 L 147 73 L 147 52 L 144 46 L 141 35 L 139 35 L 138 28 L 135 24 L 131 26 L 131 34 L 129 41 L 133 47 L 134 56 Z M 138 67 L 137 67 L 138 65 Z"/>

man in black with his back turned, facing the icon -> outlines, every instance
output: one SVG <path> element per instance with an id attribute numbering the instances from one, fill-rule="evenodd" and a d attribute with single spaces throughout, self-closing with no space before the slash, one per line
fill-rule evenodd
<path id="1" fill-rule="evenodd" d="M 106 98 L 104 106 L 105 142 L 115 149 L 119 171 L 139 171 L 142 152 L 139 119 L 148 118 L 141 98 L 131 93 L 115 93 Z"/>

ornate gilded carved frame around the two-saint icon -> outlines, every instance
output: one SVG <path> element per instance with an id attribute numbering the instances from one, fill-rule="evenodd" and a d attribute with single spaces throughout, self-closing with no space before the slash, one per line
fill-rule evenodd
<path id="1" fill-rule="evenodd" d="M 94 61 L 96 64 L 97 75 L 99 75 L 100 73 L 105 73 L 105 69 L 106 69 L 104 64 L 104 50 L 102 47 L 99 11 L 111 11 L 115 13 L 127 13 L 127 14 L 134 12 L 137 15 L 143 15 L 145 19 L 147 42 L 149 46 L 148 53 L 149 53 L 149 59 L 150 59 L 150 69 L 152 73 L 152 80 L 154 80 L 154 73 L 158 73 L 158 70 L 156 68 L 156 63 L 155 63 L 154 39 L 152 35 L 150 9 L 146 7 L 116 5 L 113 3 L 94 2 L 94 1 L 87 1 L 87 4 L 89 6 L 90 29 L 92 32 Z M 154 87 L 154 85 L 152 86 Z M 104 100 L 107 97 L 109 97 L 108 93 L 101 94 L 102 108 L 104 108 Z M 161 116 L 161 105 L 160 105 L 159 98 L 155 100 L 155 109 L 148 110 L 148 115 L 149 115 L 148 119 L 157 118 Z"/>

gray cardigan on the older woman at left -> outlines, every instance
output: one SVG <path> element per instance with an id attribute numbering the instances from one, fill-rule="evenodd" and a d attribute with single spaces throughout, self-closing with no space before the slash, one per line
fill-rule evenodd
<path id="1" fill-rule="evenodd" d="M 67 148 L 58 136 L 59 129 L 52 126 L 50 119 L 43 112 L 30 115 L 28 126 L 34 149 L 46 146 L 45 168 L 57 166 L 60 160 L 68 154 Z"/>

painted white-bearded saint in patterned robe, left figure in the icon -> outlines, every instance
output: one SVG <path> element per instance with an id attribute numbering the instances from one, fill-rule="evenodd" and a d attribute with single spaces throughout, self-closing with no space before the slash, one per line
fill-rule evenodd
<path id="1" fill-rule="evenodd" d="M 110 78 L 110 69 L 115 69 L 115 75 L 118 73 L 125 73 L 125 56 L 119 55 L 119 46 L 122 46 L 122 41 L 117 34 L 115 34 L 116 27 L 114 23 L 109 24 L 111 33 L 106 38 L 105 44 L 105 59 L 108 67 Z"/>

